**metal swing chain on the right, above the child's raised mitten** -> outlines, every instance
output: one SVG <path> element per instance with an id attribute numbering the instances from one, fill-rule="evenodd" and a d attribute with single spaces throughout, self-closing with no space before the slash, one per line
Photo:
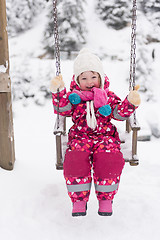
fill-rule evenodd
<path id="1" fill-rule="evenodd" d="M 129 79 L 129 91 L 135 88 L 136 78 L 136 20 L 137 20 L 137 3 L 133 0 L 132 7 L 132 33 L 131 33 L 131 56 L 130 56 L 130 79 Z M 134 124 L 136 124 L 136 112 L 134 111 Z"/>

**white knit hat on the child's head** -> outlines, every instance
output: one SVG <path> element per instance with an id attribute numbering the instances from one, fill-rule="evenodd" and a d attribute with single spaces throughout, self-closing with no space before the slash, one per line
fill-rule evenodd
<path id="1" fill-rule="evenodd" d="M 89 49 L 83 48 L 74 61 L 73 71 L 75 75 L 75 81 L 77 77 L 85 71 L 94 71 L 100 74 L 101 88 L 104 87 L 105 75 L 103 66 L 99 57 L 91 53 Z"/>

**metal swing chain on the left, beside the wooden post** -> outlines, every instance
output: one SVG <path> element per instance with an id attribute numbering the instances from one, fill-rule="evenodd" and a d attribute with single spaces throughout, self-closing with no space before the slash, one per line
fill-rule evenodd
<path id="1" fill-rule="evenodd" d="M 53 0 L 53 20 L 54 20 L 54 40 L 55 40 L 55 59 L 56 59 L 56 76 L 61 73 L 60 66 L 60 48 L 59 48 L 59 34 L 58 34 L 58 20 L 57 20 L 57 0 Z M 57 89 L 57 129 L 60 127 L 59 119 L 59 89 Z"/>

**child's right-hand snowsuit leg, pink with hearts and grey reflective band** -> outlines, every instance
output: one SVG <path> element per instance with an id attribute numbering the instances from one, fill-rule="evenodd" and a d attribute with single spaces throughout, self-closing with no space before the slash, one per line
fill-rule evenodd
<path id="1" fill-rule="evenodd" d="M 124 167 L 119 145 L 104 137 L 93 154 L 94 184 L 98 200 L 112 200 Z"/>

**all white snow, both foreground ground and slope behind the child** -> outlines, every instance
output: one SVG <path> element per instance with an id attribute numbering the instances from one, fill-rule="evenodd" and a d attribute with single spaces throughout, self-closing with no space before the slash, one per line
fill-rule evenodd
<path id="1" fill-rule="evenodd" d="M 90 2 L 89 5 L 90 11 L 93 10 Z M 115 53 L 118 51 L 121 56 L 123 46 L 127 46 L 128 49 L 129 29 L 120 32 L 106 30 L 105 34 L 104 26 L 101 32 L 100 22 L 94 16 L 88 18 L 88 24 L 91 26 L 92 21 L 96 23 L 94 31 L 97 29 L 98 36 L 102 36 L 103 33 L 105 42 L 103 43 L 99 37 L 97 40 L 93 39 L 93 33 L 89 33 L 88 46 L 95 48 L 98 53 L 111 54 L 112 50 Z M 15 67 L 22 67 L 21 71 L 31 72 L 34 79 L 37 79 L 37 82 L 33 81 L 32 89 L 40 103 L 44 100 L 37 87 L 40 81 L 39 71 L 44 75 L 43 81 L 45 80 L 44 85 L 47 87 L 50 77 L 55 72 L 52 60 L 37 58 L 41 53 L 44 24 L 45 14 L 41 14 L 31 30 L 9 40 L 11 79 L 13 80 Z M 102 22 L 101 24 L 103 25 Z M 116 42 L 111 44 L 112 37 L 116 37 L 116 34 L 117 39 L 122 35 L 125 39 L 126 35 L 124 45 L 121 45 L 123 39 L 118 40 L 117 44 Z M 157 50 L 160 46 L 155 44 L 154 47 Z M 103 60 L 107 75 L 111 79 L 110 88 L 121 98 L 128 92 L 127 83 L 123 80 L 129 71 L 127 52 L 128 50 L 125 51 L 123 61 L 118 59 L 113 61 L 110 57 Z M 142 104 L 137 111 L 142 126 L 143 123 L 153 123 L 152 120 L 156 124 L 160 118 L 157 111 L 159 61 L 160 55 L 157 54 L 153 63 L 155 81 L 152 82 L 155 86 L 156 100 L 146 102 L 145 96 L 142 95 Z M 62 72 L 67 87 L 72 77 L 72 65 L 73 62 L 70 60 L 62 61 Z M 45 73 L 48 72 L 49 75 L 45 79 Z M 13 117 L 16 162 L 13 171 L 0 169 L 2 240 L 159 239 L 159 138 L 151 136 L 151 141 L 138 142 L 140 164 L 137 167 L 131 167 L 128 163 L 125 165 L 119 192 L 114 199 L 112 217 L 101 217 L 97 214 L 98 203 L 92 186 L 87 216 L 73 218 L 63 171 L 55 169 L 56 148 L 53 129 L 56 116 L 53 114 L 51 99 L 46 99 L 43 105 L 36 105 L 30 98 L 25 101 L 13 101 Z"/>

